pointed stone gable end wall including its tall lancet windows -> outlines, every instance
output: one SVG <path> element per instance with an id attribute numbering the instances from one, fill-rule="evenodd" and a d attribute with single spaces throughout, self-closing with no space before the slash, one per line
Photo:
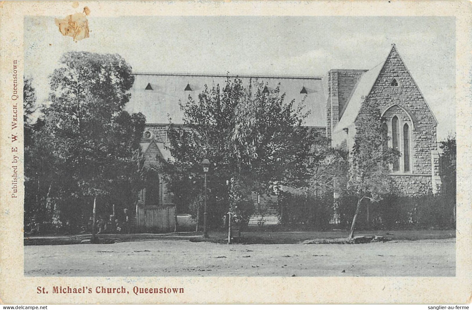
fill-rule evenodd
<path id="1" fill-rule="evenodd" d="M 390 137 L 389 144 L 401 153 L 393 173 L 431 175 L 431 151 L 437 148 L 437 120 L 395 45 L 367 100 L 378 104 Z"/>

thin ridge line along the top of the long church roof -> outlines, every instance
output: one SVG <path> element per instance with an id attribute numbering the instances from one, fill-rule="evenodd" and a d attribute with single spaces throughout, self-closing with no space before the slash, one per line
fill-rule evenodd
<path id="1" fill-rule="evenodd" d="M 134 71 L 133 75 L 178 75 L 178 76 L 215 76 L 215 77 L 254 77 L 254 78 L 307 78 L 321 80 L 322 75 L 290 75 L 290 74 L 232 74 L 232 73 L 192 73 L 192 72 L 146 72 Z"/>

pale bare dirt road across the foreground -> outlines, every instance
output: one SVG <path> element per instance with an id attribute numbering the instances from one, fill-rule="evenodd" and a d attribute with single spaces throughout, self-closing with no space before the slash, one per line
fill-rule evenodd
<path id="1" fill-rule="evenodd" d="M 149 240 L 24 248 L 26 276 L 455 276 L 455 238 L 231 245 Z"/>

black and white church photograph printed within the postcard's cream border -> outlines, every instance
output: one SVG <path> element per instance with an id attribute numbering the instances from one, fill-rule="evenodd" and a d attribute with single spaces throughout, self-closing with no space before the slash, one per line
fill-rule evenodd
<path id="1" fill-rule="evenodd" d="M 87 10 L 24 19 L 25 276 L 455 276 L 454 18 Z"/>

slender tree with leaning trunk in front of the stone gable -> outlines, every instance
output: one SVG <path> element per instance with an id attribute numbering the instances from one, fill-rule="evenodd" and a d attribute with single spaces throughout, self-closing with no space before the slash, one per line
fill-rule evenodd
<path id="1" fill-rule="evenodd" d="M 373 101 L 362 102 L 355 120 L 354 148 L 350 152 L 347 190 L 357 198 L 357 206 L 349 238 L 354 237 L 357 216 L 362 201 L 378 202 L 393 190 L 389 165 L 399 157 L 398 151 L 388 147 L 383 133 L 384 119 Z"/>

